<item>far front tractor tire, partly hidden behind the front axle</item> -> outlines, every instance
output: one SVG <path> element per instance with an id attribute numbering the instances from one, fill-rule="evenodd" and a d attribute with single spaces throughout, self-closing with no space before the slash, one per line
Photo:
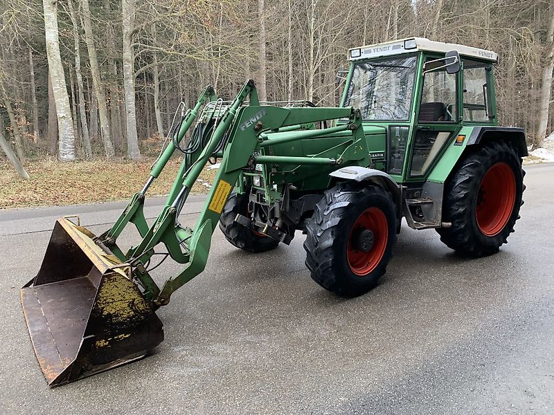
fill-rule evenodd
<path id="1" fill-rule="evenodd" d="M 248 202 L 249 198 L 246 193 L 238 194 L 233 192 L 233 194 L 229 196 L 229 200 L 224 206 L 220 216 L 220 229 L 227 241 L 231 242 L 237 248 L 255 253 L 277 248 L 279 241 L 254 232 L 235 222 L 235 217 L 237 217 L 238 213 L 250 217 Z"/>

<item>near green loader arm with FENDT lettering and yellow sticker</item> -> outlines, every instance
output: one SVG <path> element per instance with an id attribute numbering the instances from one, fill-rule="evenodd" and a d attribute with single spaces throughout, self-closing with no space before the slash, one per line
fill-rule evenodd
<path id="1" fill-rule="evenodd" d="M 249 104 L 244 106 L 246 100 L 249 100 Z M 131 264 L 138 264 L 134 269 L 134 275 L 142 282 L 143 287 L 152 286 L 153 283 L 148 272 L 141 266 L 144 263 L 143 258 L 149 258 L 154 247 L 159 243 L 166 246 L 168 254 L 173 260 L 185 264 L 184 270 L 179 275 L 167 279 L 161 290 L 146 288 L 156 306 L 168 304 L 173 292 L 204 270 L 211 246 L 211 236 L 242 169 L 253 163 L 289 163 L 297 165 L 318 163 L 338 165 L 341 163 L 341 160 L 326 157 L 254 157 L 255 150 L 260 148 L 265 139 L 267 140 L 261 134 L 267 131 L 277 131 L 283 127 L 338 118 L 348 118 L 350 122 L 343 126 L 322 129 L 319 134 L 323 135 L 328 130 L 350 130 L 352 131 L 352 143 L 357 143 L 359 153 L 367 154 L 367 149 L 364 148 L 364 131 L 361 128 L 359 111 L 351 108 L 287 109 L 260 106 L 253 81 L 250 80 L 242 86 L 235 100 L 217 124 L 202 153 L 188 167 L 184 175 L 178 177 L 181 182 L 172 189 L 157 220 L 143 235 L 139 245 L 131 248 L 127 255 L 127 261 Z M 177 223 L 179 212 L 208 158 L 212 156 L 222 140 L 226 140 L 226 145 L 224 146 L 220 169 L 218 169 L 215 176 L 195 228 L 194 230 L 182 228 Z M 356 146 L 352 146 L 352 148 L 356 148 Z M 348 149 L 348 154 L 352 152 L 352 148 Z"/>

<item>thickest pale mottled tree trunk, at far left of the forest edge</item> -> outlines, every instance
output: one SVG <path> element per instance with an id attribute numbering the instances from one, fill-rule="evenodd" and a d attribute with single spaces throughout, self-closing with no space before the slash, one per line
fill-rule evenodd
<path id="1" fill-rule="evenodd" d="M 75 131 L 71 106 L 67 95 L 64 67 L 60 55 L 60 40 L 57 35 L 57 3 L 43 0 L 44 33 L 46 36 L 46 55 L 48 71 L 52 82 L 52 91 L 56 105 L 57 129 L 59 135 L 58 158 L 61 161 L 75 160 Z"/>

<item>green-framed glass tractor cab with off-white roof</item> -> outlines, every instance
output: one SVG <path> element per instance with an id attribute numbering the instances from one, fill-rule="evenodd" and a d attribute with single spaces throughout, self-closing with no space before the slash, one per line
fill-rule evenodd
<path id="1" fill-rule="evenodd" d="M 397 183 L 426 181 L 464 126 L 497 125 L 490 50 L 412 37 L 348 51 L 341 107 L 361 110 L 377 169 Z M 455 142 L 460 140 L 460 142 Z"/>

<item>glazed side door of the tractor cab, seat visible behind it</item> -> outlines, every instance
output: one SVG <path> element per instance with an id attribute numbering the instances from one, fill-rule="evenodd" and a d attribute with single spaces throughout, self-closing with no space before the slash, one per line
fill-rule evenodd
<path id="1" fill-rule="evenodd" d="M 425 57 L 417 122 L 410 140 L 410 159 L 406 174 L 410 181 L 425 180 L 431 167 L 460 129 L 458 91 L 461 71 L 448 73 L 444 67 L 444 59 L 440 58 L 444 58 L 444 55 Z"/>

